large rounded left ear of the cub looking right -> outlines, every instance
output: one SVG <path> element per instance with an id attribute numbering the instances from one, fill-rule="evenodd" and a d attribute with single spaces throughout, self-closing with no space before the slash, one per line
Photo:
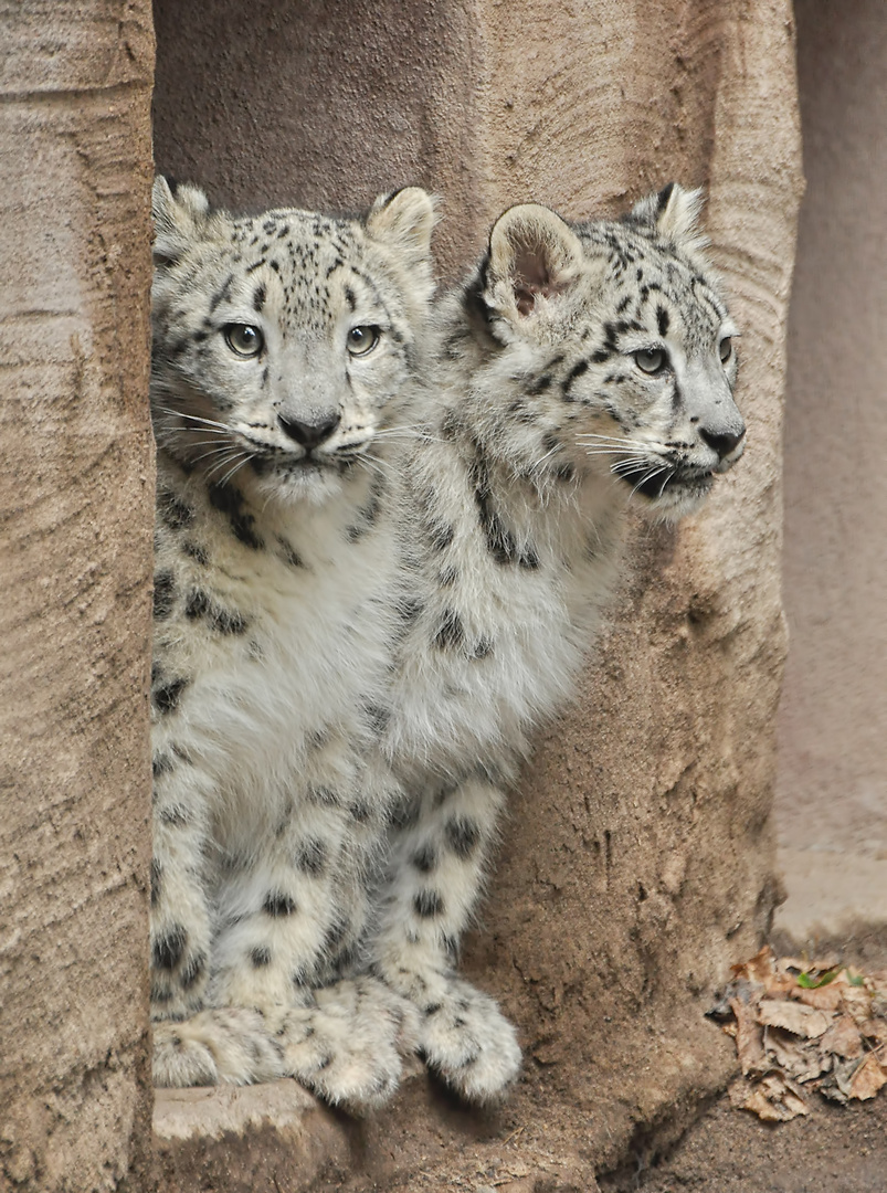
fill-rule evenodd
<path id="1" fill-rule="evenodd" d="M 484 298 L 516 321 L 569 291 L 579 276 L 582 242 L 565 220 L 523 203 L 498 217 L 490 233 L 490 259 Z"/>

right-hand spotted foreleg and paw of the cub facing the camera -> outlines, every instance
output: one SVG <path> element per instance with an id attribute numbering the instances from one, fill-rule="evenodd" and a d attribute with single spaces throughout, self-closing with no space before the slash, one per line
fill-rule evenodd
<path id="1" fill-rule="evenodd" d="M 224 1081 L 274 1071 L 353 1108 L 378 1105 L 397 1087 L 403 1055 L 415 1050 L 415 1008 L 378 978 L 351 976 L 378 888 L 389 798 L 385 784 L 371 785 L 330 741 L 293 780 L 261 849 L 231 857 L 216 896 L 209 989 L 212 1006 L 227 1009 L 187 1030 L 176 1025 L 178 1055 L 188 1055 L 194 1071 Z M 232 1021 L 228 1008 L 252 1018 Z M 174 1077 L 187 1071 L 173 1049 L 166 1055 Z"/>

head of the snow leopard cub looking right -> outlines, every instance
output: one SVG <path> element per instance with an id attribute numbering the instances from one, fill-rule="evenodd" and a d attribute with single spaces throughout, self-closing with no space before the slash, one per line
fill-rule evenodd
<path id="1" fill-rule="evenodd" d="M 697 193 L 666 187 L 622 222 L 507 211 L 482 278 L 500 367 L 552 466 L 604 472 L 656 517 L 691 512 L 742 456 L 737 328 L 695 230 Z M 533 431 L 531 429 L 533 428 Z"/>

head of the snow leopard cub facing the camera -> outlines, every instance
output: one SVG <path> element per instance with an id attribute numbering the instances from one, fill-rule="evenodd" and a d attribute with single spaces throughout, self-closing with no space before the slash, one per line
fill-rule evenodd
<path id="1" fill-rule="evenodd" d="M 372 468 L 417 369 L 428 196 L 382 198 L 365 220 L 232 218 L 159 178 L 154 218 L 159 444 L 263 500 L 324 500 L 355 464 Z"/>

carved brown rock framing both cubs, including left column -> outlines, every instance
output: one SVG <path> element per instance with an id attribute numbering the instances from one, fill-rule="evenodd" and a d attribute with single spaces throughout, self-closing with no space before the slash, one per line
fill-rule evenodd
<path id="1" fill-rule="evenodd" d="M 776 897 L 792 10 L 516 7 L 159 0 L 157 165 L 254 208 L 439 190 L 447 277 L 508 204 L 578 217 L 706 185 L 749 451 L 693 525 L 638 527 L 612 629 L 515 793 L 465 963 L 520 1027 L 509 1104 L 465 1112 L 422 1074 L 366 1123 L 291 1086 L 162 1094 L 165 1193 L 590 1191 L 732 1067 L 701 1013 Z M 150 17 L 33 0 L 5 36 L 0 1181 L 111 1189 L 129 1169 L 142 1189 Z"/>

